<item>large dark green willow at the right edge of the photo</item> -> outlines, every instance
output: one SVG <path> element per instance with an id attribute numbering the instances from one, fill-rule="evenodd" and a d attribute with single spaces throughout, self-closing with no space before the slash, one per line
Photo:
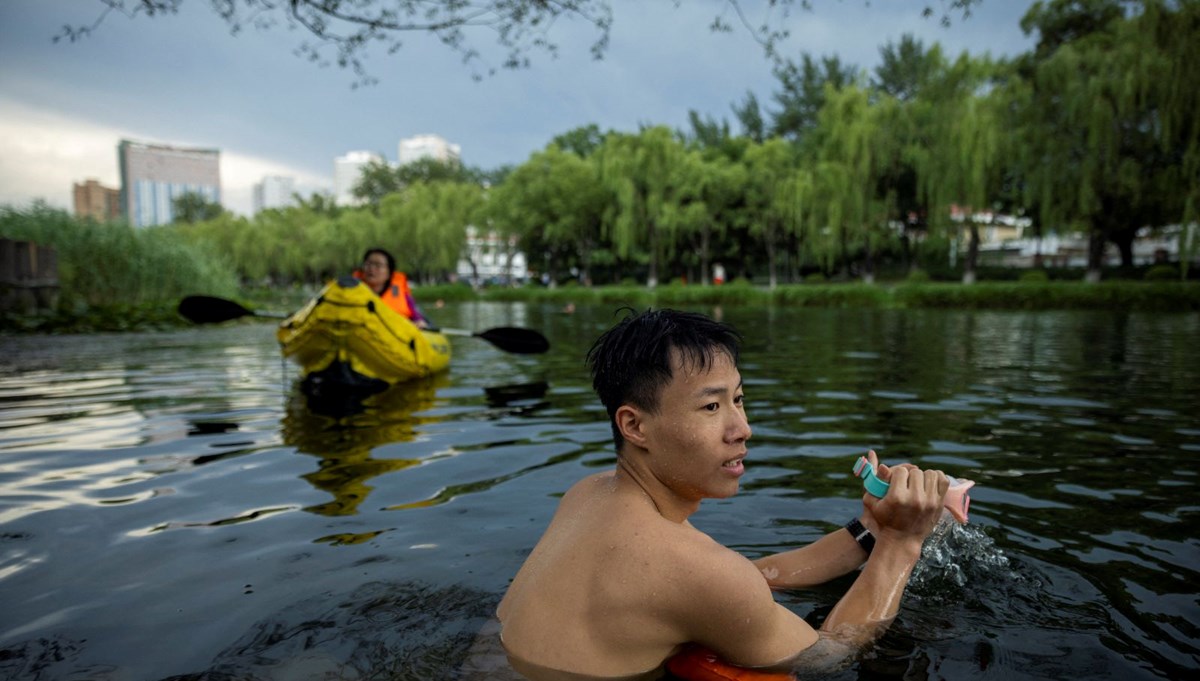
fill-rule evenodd
<path id="1" fill-rule="evenodd" d="M 1130 265 L 1141 228 L 1196 218 L 1200 4 L 1127 5 L 1039 2 L 1021 22 L 1039 34 L 1014 84 L 1027 192 L 1044 224 L 1086 230 L 1088 281 L 1108 242 Z"/>

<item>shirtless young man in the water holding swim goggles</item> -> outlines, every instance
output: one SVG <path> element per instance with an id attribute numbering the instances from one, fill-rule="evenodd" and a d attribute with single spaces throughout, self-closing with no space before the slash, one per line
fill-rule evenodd
<path id="1" fill-rule="evenodd" d="M 829 641 L 848 655 L 895 616 L 942 513 L 941 471 L 880 466 L 892 487 L 883 499 L 864 496 L 870 553 L 838 530 L 750 561 L 688 523 L 702 499 L 737 493 L 745 470 L 738 343 L 728 326 L 661 309 L 631 314 L 593 345 L 617 468 L 568 490 L 497 609 L 510 662 L 526 676 L 653 677 L 688 643 L 742 667 L 806 667 L 839 647 Z M 820 632 L 772 596 L 864 561 Z"/>

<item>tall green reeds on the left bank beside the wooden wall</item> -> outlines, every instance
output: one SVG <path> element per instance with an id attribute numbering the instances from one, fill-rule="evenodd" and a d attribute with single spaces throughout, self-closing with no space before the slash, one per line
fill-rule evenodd
<path id="1" fill-rule="evenodd" d="M 236 273 L 215 249 L 181 239 L 170 227 L 80 221 L 35 204 L 28 210 L 0 206 L 0 237 L 55 249 L 59 305 L 66 309 L 238 293 Z"/>

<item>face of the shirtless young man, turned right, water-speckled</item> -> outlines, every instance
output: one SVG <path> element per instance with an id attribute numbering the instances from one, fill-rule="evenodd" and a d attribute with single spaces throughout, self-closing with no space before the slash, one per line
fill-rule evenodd
<path id="1" fill-rule="evenodd" d="M 725 352 L 697 369 L 672 351 L 672 379 L 656 414 L 643 412 L 646 446 L 655 476 L 689 500 L 727 498 L 745 472 L 750 424 L 742 374 Z"/>

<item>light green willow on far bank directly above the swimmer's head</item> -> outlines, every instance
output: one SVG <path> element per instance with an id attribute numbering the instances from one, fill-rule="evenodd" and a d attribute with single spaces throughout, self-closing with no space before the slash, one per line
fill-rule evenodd
<path id="1" fill-rule="evenodd" d="M 659 264 L 673 246 L 664 218 L 667 204 L 680 200 L 672 169 L 683 153 L 671 129 L 656 126 L 637 135 L 611 133 L 594 155 L 600 182 L 613 197 L 605 216 L 606 236 L 619 258 L 644 255 L 650 288 L 658 285 Z"/>

